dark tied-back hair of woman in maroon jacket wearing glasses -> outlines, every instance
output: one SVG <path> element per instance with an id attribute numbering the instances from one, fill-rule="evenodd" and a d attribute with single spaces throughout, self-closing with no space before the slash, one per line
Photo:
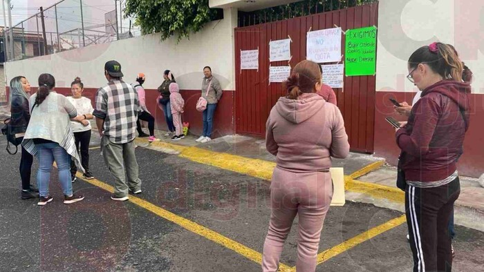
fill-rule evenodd
<path id="1" fill-rule="evenodd" d="M 418 64 L 427 64 L 443 79 L 463 81 L 464 65 L 453 46 L 431 43 L 429 46 L 418 48 L 409 57 L 409 67 L 416 68 Z"/>

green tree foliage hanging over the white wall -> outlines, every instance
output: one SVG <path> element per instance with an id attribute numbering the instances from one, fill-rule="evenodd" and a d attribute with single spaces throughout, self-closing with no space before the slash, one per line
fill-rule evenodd
<path id="1" fill-rule="evenodd" d="M 162 40 L 178 34 L 178 41 L 216 16 L 208 0 L 127 0 L 124 12 L 136 18 L 143 34 L 160 32 Z"/>

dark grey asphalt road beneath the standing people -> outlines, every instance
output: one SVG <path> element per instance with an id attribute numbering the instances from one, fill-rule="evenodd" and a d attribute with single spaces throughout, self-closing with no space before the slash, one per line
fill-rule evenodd
<path id="1" fill-rule="evenodd" d="M 99 149 L 91 169 L 113 185 Z M 261 179 L 197 164 L 139 147 L 142 200 L 201 224 L 262 252 L 270 215 L 269 184 Z M 260 264 L 131 202 L 79 180 L 86 199 L 62 204 L 57 169 L 51 175 L 54 201 L 39 207 L 20 199 L 19 155 L 8 155 L 0 138 L 0 271 L 260 271 Z M 35 181 L 37 164 L 33 166 Z M 319 251 L 402 215 L 370 204 L 331 207 Z M 295 266 L 297 222 L 281 262 Z M 456 226 L 454 271 L 484 270 L 484 233 Z M 409 271 L 406 224 L 319 264 L 317 271 Z"/>

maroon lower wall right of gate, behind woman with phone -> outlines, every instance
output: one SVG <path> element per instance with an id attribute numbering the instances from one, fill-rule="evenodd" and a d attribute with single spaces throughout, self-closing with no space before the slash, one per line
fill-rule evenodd
<path id="1" fill-rule="evenodd" d="M 395 143 L 395 130 L 385 121 L 385 117 L 391 116 L 399 121 L 405 121 L 406 117 L 395 115 L 390 97 L 397 101 L 407 101 L 411 104 L 415 93 L 402 92 L 376 92 L 375 110 L 375 155 L 384 157 L 389 164 L 396 165 L 400 149 Z M 469 130 L 465 135 L 464 155 L 458 162 L 460 175 L 478 177 L 484 173 L 484 144 L 481 139 L 484 134 L 484 95 L 470 95 L 471 97 L 471 121 Z"/>

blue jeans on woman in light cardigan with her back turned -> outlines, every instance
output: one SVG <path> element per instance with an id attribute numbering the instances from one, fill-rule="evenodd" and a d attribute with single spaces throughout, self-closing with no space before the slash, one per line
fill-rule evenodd
<path id="1" fill-rule="evenodd" d="M 37 159 L 39 159 L 39 170 L 37 171 L 37 186 L 41 197 L 48 196 L 48 183 L 50 171 L 55 161 L 59 170 L 59 182 L 64 195 L 73 194 L 71 181 L 71 156 L 57 143 L 37 144 Z"/>

